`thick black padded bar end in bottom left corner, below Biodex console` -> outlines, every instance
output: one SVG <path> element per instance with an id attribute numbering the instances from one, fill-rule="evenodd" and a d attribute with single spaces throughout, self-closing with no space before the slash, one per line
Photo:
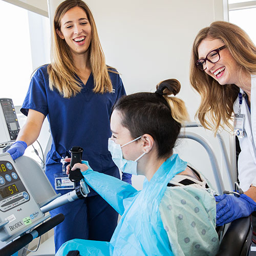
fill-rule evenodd
<path id="1" fill-rule="evenodd" d="M 22 249 L 25 245 L 29 244 L 33 240 L 31 233 L 24 234 L 24 236 L 14 240 L 10 244 L 0 249 L 1 256 L 10 256 L 16 251 Z"/>

